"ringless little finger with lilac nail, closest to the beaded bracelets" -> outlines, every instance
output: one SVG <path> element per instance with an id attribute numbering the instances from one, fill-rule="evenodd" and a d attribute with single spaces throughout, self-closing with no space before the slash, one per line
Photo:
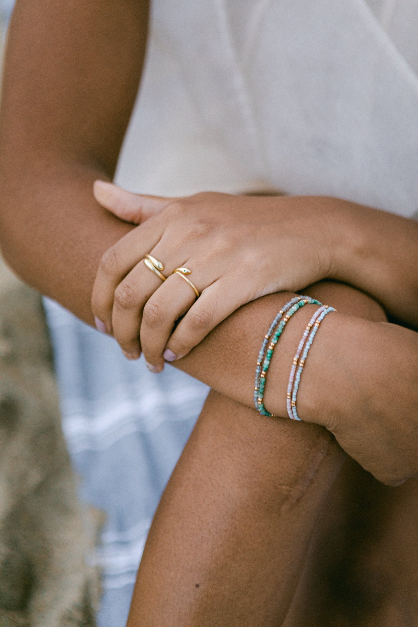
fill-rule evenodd
<path id="1" fill-rule="evenodd" d="M 165 361 L 175 361 L 187 355 L 222 320 L 252 300 L 249 290 L 251 286 L 243 293 L 236 289 L 236 285 L 242 287 L 243 282 L 238 283 L 238 280 L 232 279 L 231 275 L 219 278 L 203 290 L 167 342 L 164 350 Z"/>

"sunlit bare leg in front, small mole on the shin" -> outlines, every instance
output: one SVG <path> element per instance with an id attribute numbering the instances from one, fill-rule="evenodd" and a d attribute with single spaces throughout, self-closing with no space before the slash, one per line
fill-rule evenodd
<path id="1" fill-rule="evenodd" d="M 128 626 L 278 626 L 345 454 L 212 392 L 155 515 Z"/>

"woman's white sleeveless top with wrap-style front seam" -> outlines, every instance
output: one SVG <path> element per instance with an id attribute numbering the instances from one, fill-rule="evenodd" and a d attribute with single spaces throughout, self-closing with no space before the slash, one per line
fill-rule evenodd
<path id="1" fill-rule="evenodd" d="M 418 0 L 155 0 L 117 182 L 418 209 Z"/>

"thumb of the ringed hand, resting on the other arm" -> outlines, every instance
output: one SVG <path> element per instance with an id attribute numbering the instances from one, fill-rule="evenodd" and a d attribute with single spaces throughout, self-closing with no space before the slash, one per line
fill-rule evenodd
<path id="1" fill-rule="evenodd" d="M 113 183 L 100 180 L 94 182 L 93 194 L 102 207 L 117 218 L 133 224 L 145 222 L 172 202 L 172 198 L 133 194 Z"/>

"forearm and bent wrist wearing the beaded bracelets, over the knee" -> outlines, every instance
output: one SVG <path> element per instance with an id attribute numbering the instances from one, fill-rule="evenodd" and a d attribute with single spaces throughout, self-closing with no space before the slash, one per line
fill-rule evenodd
<path id="1" fill-rule="evenodd" d="M 384 322 L 379 305 L 353 288 L 319 283 L 306 291 L 338 311 L 324 320 L 306 360 L 301 419 L 332 431 L 343 450 L 384 483 L 418 477 L 418 334 Z M 253 407 L 259 346 L 289 298 L 276 294 L 242 307 L 178 366 Z M 291 363 L 313 310 L 305 305 L 288 322 L 268 371 L 265 406 L 286 420 Z"/>

